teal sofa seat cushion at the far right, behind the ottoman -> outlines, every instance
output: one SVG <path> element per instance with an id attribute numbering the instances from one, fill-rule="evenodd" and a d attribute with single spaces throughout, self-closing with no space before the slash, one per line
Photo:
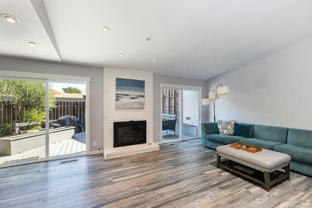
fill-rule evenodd
<path id="1" fill-rule="evenodd" d="M 283 144 L 274 147 L 273 150 L 286 153 L 290 155 L 293 160 L 312 164 L 312 149 L 310 148 L 298 147 L 291 144 Z"/>

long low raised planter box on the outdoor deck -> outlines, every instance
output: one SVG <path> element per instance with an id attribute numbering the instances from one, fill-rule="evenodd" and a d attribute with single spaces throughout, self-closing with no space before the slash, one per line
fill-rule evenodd
<path id="1" fill-rule="evenodd" d="M 75 127 L 60 127 L 49 130 L 50 143 L 70 139 Z M 0 155 L 12 155 L 45 146 L 45 129 L 15 136 L 0 138 Z"/>

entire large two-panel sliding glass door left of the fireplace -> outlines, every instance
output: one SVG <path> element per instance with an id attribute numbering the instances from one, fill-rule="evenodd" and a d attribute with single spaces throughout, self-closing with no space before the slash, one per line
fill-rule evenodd
<path id="1" fill-rule="evenodd" d="M 86 154 L 86 82 L 0 79 L 0 167 Z"/>

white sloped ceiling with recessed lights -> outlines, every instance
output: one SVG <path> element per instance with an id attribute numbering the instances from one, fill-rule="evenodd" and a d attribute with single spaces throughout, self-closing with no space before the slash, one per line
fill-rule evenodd
<path id="1" fill-rule="evenodd" d="M 0 13 L 22 20 L 0 18 L 2 56 L 202 80 L 312 34 L 312 0 L 0 0 Z"/>

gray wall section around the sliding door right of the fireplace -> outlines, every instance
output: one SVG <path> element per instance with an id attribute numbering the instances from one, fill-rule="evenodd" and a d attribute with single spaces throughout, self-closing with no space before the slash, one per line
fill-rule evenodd
<path id="1" fill-rule="evenodd" d="M 176 84 L 176 85 L 187 85 L 187 86 L 200 86 L 202 87 L 202 97 L 206 97 L 207 94 L 207 81 L 190 79 L 190 78 L 181 78 L 176 76 L 164 76 L 154 74 L 153 76 L 154 88 L 153 88 L 153 124 L 154 124 L 154 142 L 160 142 L 160 136 L 158 132 L 161 131 L 161 115 L 160 115 L 160 99 L 162 98 L 160 94 L 160 83 L 165 84 Z M 203 108 L 202 121 L 207 121 L 207 108 Z"/>

